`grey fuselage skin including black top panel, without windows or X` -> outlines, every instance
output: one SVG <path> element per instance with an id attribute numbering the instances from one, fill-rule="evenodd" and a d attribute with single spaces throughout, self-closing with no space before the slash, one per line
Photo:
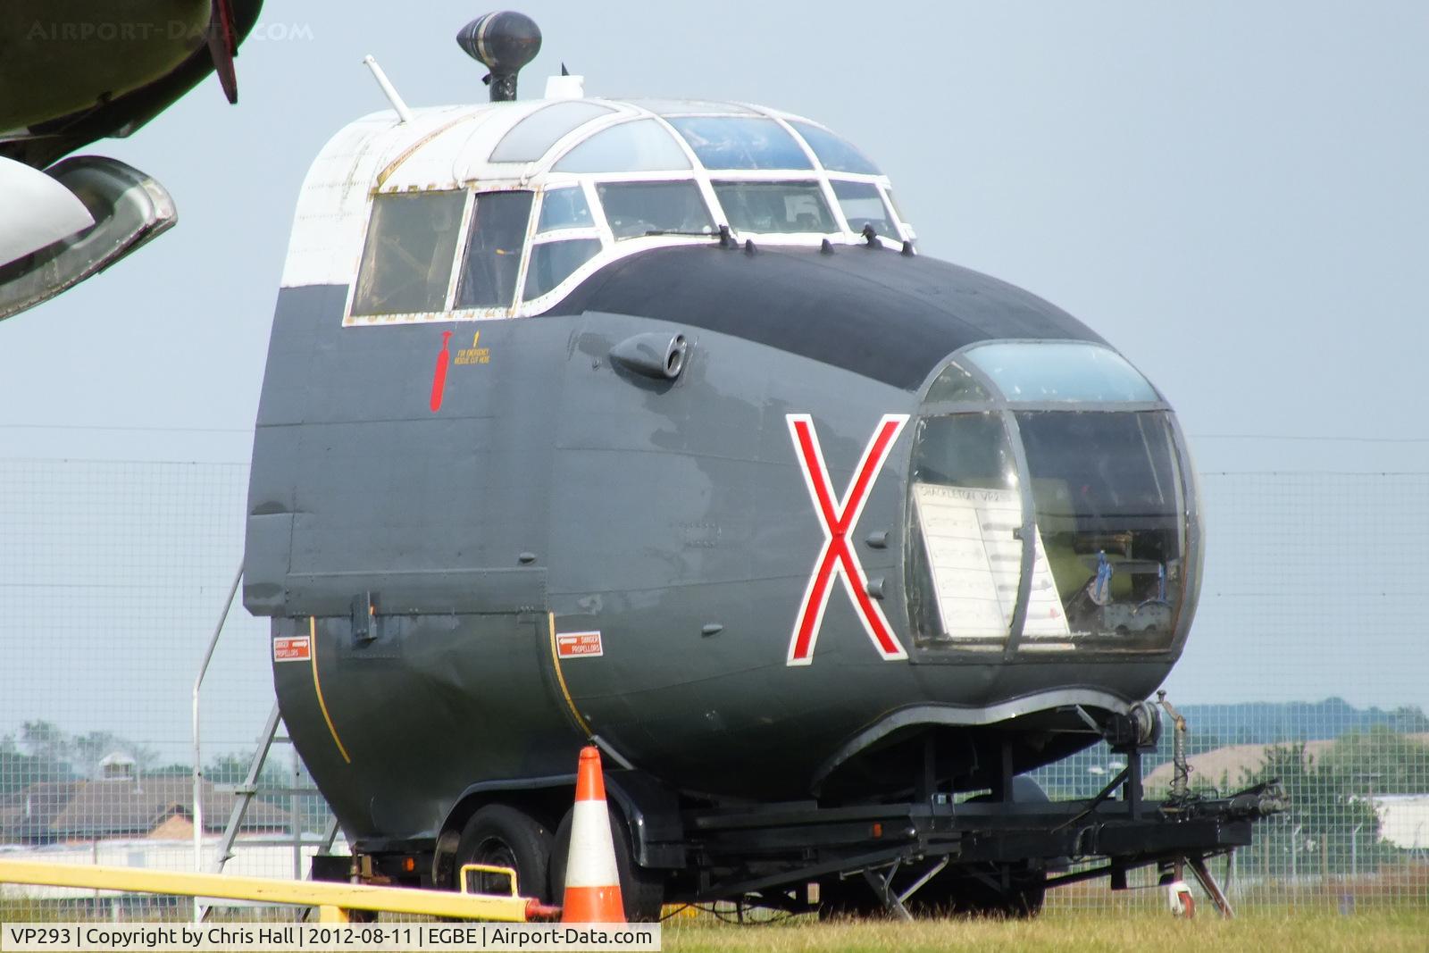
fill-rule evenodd
<path id="1" fill-rule="evenodd" d="M 432 837 L 473 784 L 569 774 L 587 729 L 676 790 L 857 800 L 906 776 L 870 754 L 829 787 L 833 762 L 943 723 L 939 773 L 986 783 L 976 744 L 956 754 L 982 729 L 959 724 L 999 712 L 1029 770 L 1096 740 L 1076 699 L 1142 699 L 1179 654 L 920 664 L 905 429 L 849 539 L 912 659 L 885 662 L 835 584 L 812 664 L 786 664 L 823 543 L 786 416 L 810 414 L 843 493 L 880 417 L 916 416 L 959 347 L 1100 340 L 1035 296 L 857 247 L 647 251 L 516 320 L 344 329 L 347 290 L 279 294 L 243 597 L 274 637 L 312 626 L 316 663 L 274 662 L 274 683 L 349 837 Z M 609 360 L 649 331 L 687 339 L 677 380 Z M 547 613 L 602 654 L 557 670 Z M 1017 709 L 1059 692 L 1063 712 Z"/>

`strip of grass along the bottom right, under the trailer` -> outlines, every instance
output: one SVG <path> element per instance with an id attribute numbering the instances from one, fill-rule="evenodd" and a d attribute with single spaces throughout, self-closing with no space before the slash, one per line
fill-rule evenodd
<path id="1" fill-rule="evenodd" d="M 1333 950 L 1429 952 L 1429 912 L 1373 910 L 1248 913 L 1236 920 L 1167 913 L 1050 910 L 1027 922 L 945 920 L 922 923 L 816 923 L 795 919 L 765 926 L 704 920 L 664 924 L 670 953 L 1103 953 L 1112 950 Z"/>

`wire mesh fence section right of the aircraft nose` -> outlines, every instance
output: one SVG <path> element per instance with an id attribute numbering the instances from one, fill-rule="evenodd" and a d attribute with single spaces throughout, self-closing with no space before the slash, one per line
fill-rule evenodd
<path id="1" fill-rule="evenodd" d="M 1200 610 L 1166 686 L 1189 724 L 1190 790 L 1279 779 L 1290 796 L 1215 873 L 1242 903 L 1429 907 L 1429 474 L 1210 473 L 1202 490 Z M 1152 794 L 1170 784 L 1170 744 L 1146 757 Z M 1039 780 L 1086 797 L 1123 760 L 1099 744 Z"/>

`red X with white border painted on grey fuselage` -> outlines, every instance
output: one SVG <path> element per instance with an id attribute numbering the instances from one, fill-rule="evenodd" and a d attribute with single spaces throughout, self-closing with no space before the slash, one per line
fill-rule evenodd
<path id="1" fill-rule="evenodd" d="M 869 633 L 885 662 L 907 659 L 907 652 L 893 634 L 883 610 L 869 597 L 869 580 L 863 574 L 857 553 L 849 546 L 849 533 L 859 524 L 859 514 L 863 513 L 869 490 L 877 480 L 899 431 L 907 423 L 907 414 L 883 414 L 883 420 L 863 449 L 863 457 L 853 471 L 853 483 L 849 484 L 843 500 L 835 499 L 829 486 L 829 467 L 823 464 L 823 450 L 813 429 L 813 417 L 787 414 L 785 419 L 789 421 L 789 436 L 795 441 L 799 469 L 803 470 L 805 484 L 809 487 L 809 499 L 813 500 L 813 509 L 823 527 L 823 549 L 819 550 L 813 576 L 809 577 L 809 589 L 805 590 L 803 604 L 799 607 L 799 619 L 795 620 L 786 664 L 806 666 L 813 662 L 813 646 L 819 642 L 823 610 L 829 604 L 830 583 L 835 576 L 843 580 L 849 599 L 859 610 L 863 630 Z"/>

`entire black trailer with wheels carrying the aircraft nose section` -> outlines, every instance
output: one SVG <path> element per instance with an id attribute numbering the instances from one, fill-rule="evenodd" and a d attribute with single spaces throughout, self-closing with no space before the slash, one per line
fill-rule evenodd
<path id="1" fill-rule="evenodd" d="M 1112 890 L 1125 890 L 1129 872 L 1155 866 L 1162 883 L 1180 882 L 1189 870 L 1218 910 L 1233 916 L 1208 860 L 1248 847 L 1255 822 L 1286 809 L 1285 792 L 1275 782 L 1226 796 L 1192 792 L 1185 720 L 1165 697 L 1162 706 L 1175 726 L 1176 776 L 1159 800 L 1149 800 L 1142 784 L 1142 759 L 1159 737 L 1159 720 L 1149 720 L 1147 709 L 1115 726 L 1119 734 L 1109 740 L 1126 766 L 1085 800 L 1049 800 L 1030 777 L 1012 773 L 1006 744 L 1002 773 L 986 793 L 939 790 L 929 744 L 926 770 L 910 779 L 912 797 L 866 804 L 700 803 L 646 772 L 607 770 L 627 913 L 657 919 L 663 903 L 733 899 L 820 917 L 1026 917 L 1040 910 L 1049 889 L 1105 877 Z M 493 790 L 487 807 L 544 816 L 543 804 L 553 796 L 569 800 L 573 783 L 572 776 L 529 790 Z M 549 883 L 559 899 L 570 823 L 552 823 Z M 444 886 L 444 867 L 459 860 L 450 836 L 456 826 L 447 824 L 444 852 L 436 840 L 359 842 L 352 857 L 314 857 L 314 877 L 400 883 L 422 870 L 432 873 L 416 883 Z M 520 867 L 526 859 L 497 860 Z"/>

